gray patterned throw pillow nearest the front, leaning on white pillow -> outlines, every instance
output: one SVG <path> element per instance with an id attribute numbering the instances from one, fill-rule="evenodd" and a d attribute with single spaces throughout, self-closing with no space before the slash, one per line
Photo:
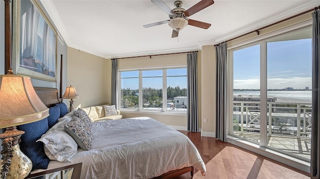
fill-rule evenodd
<path id="1" fill-rule="evenodd" d="M 75 140 L 79 147 L 89 150 L 92 147 L 93 136 L 90 126 L 77 116 L 72 116 L 69 123 L 64 125 L 65 131 Z"/>

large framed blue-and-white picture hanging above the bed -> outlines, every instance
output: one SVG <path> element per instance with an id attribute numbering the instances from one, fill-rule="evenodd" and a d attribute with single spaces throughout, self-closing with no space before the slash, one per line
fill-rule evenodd
<path id="1" fill-rule="evenodd" d="M 56 82 L 56 29 L 36 0 L 15 0 L 12 5 L 13 71 Z"/>

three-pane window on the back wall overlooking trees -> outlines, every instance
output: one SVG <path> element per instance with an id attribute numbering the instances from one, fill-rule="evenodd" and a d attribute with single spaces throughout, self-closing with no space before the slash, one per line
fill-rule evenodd
<path id="1" fill-rule="evenodd" d="M 186 111 L 185 67 L 119 70 L 119 76 L 120 109 Z"/>

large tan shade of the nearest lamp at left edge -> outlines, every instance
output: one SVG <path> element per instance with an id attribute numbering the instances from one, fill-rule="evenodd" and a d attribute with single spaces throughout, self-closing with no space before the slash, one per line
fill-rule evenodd
<path id="1" fill-rule="evenodd" d="M 41 120 L 49 115 L 30 77 L 0 75 L 0 128 Z"/>

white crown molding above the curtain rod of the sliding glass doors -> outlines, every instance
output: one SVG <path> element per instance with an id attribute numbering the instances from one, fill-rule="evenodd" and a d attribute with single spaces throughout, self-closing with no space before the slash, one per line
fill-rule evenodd
<path id="1" fill-rule="evenodd" d="M 272 16 L 266 18 L 266 19 L 259 20 L 258 22 L 253 23 L 251 25 L 246 25 L 246 27 L 240 27 L 238 29 L 235 29 L 235 30 L 229 32 L 227 35 L 223 35 L 223 36 L 220 36 L 220 37 L 216 38 L 215 41 L 225 41 L 225 40 L 234 38 L 236 36 L 248 33 L 250 31 L 253 31 L 255 29 L 261 28 L 263 26 L 266 26 L 266 25 L 272 24 L 274 22 L 283 20 L 285 18 L 288 18 L 290 16 L 296 15 L 298 13 L 301 13 L 301 12 L 303 12 L 305 10 L 314 8 L 316 6 L 319 6 L 319 2 L 305 1 L 305 2 L 301 3 L 298 6 L 294 6 L 292 8 L 288 8 L 286 10 L 283 10 L 280 13 L 272 15 Z"/>

